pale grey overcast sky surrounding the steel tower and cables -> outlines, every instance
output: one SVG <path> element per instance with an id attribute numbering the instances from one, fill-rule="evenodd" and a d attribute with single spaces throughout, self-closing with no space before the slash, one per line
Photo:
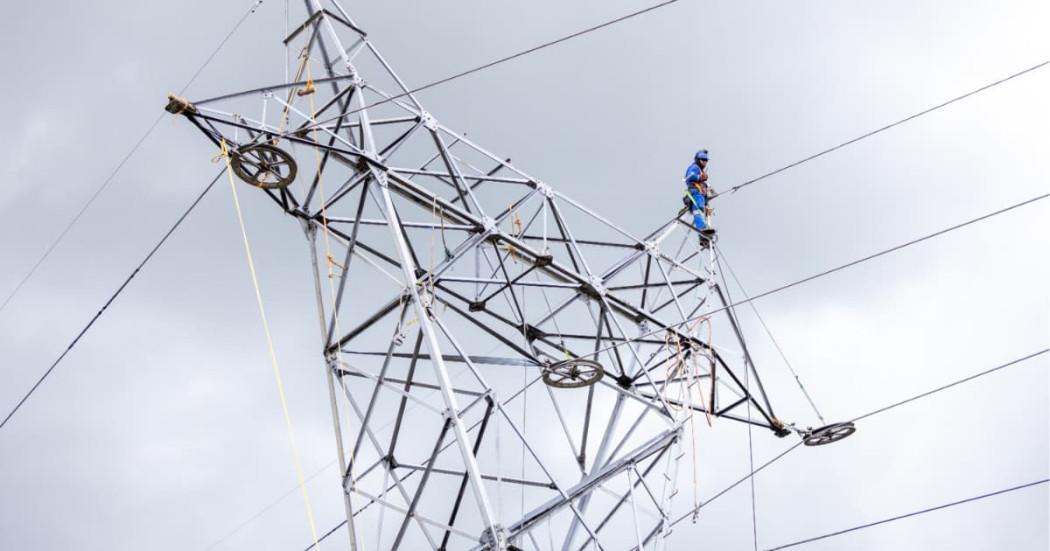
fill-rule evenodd
<path id="1" fill-rule="evenodd" d="M 344 4 L 420 85 L 646 5 Z M 0 19 L 0 296 L 250 6 L 19 2 Z M 1050 58 L 1044 1 L 682 1 L 428 90 L 429 111 L 636 233 L 679 206 L 692 152 L 719 189 Z M 187 92 L 282 78 L 268 0 Z M 1045 193 L 1050 68 L 718 199 L 720 247 L 751 293 Z M 0 312 L 13 406 L 216 172 L 166 118 Z M 1044 348 L 1046 202 L 757 301 L 817 405 L 843 420 Z M 246 200 L 318 524 L 342 517 L 309 252 Z M 0 548 L 300 549 L 297 496 L 228 188 L 216 188 L 0 430 Z M 804 400 L 757 320 L 771 395 Z M 900 407 L 756 479 L 759 547 L 1044 479 L 1046 356 Z M 812 416 L 811 416 L 812 417 Z M 747 472 L 746 432 L 712 431 L 704 495 Z M 756 435 L 756 460 L 788 443 Z M 257 513 L 267 509 L 261 515 Z M 253 518 L 248 524 L 246 521 Z M 1047 487 L 808 545 L 1045 550 Z M 238 529 L 239 528 L 239 529 Z M 738 488 L 673 549 L 751 548 Z"/>

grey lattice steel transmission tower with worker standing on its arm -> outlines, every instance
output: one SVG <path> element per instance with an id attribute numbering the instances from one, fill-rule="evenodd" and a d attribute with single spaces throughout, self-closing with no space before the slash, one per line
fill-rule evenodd
<path id="1" fill-rule="evenodd" d="M 631 235 L 489 153 L 427 112 L 338 3 L 306 8 L 285 38 L 293 82 L 168 110 L 306 232 L 340 537 L 663 549 L 672 507 L 692 507 L 674 497 L 694 411 L 791 432 L 715 249 L 677 218 Z"/>

